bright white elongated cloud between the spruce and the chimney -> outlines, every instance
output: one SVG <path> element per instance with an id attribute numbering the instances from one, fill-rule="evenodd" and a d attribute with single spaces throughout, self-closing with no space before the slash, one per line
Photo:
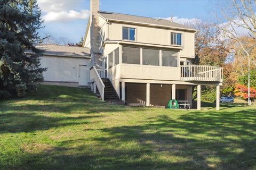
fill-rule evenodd
<path id="1" fill-rule="evenodd" d="M 68 22 L 71 20 L 87 19 L 89 15 L 90 15 L 90 11 L 88 10 L 81 10 L 80 12 L 77 12 L 74 10 L 48 12 L 47 14 L 43 15 L 43 20 L 45 20 L 45 22 L 52 22 L 52 21 Z"/>

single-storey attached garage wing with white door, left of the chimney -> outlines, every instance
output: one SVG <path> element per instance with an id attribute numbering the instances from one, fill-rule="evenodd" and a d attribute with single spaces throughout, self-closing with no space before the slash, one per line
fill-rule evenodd
<path id="1" fill-rule="evenodd" d="M 44 49 L 41 67 L 47 67 L 43 73 L 44 84 L 63 86 L 87 86 L 90 80 L 90 48 L 37 45 Z"/>

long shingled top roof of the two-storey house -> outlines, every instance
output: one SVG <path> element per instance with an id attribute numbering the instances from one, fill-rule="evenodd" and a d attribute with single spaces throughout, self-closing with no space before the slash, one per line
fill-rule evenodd
<path id="1" fill-rule="evenodd" d="M 107 20 L 112 20 L 112 21 L 133 22 L 138 24 L 156 25 L 158 27 L 170 27 L 175 29 L 185 29 L 190 31 L 196 31 L 195 29 L 190 28 L 186 25 L 182 25 L 176 22 L 171 22 L 165 19 L 148 18 L 145 16 L 136 16 L 136 15 L 121 14 L 121 13 L 106 12 L 106 11 L 99 11 L 99 15 Z"/>

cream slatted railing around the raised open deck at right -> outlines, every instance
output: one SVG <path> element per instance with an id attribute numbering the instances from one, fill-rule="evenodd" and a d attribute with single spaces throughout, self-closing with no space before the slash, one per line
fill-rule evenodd
<path id="1" fill-rule="evenodd" d="M 181 65 L 180 67 L 182 81 L 222 82 L 222 67 L 211 65 Z"/>

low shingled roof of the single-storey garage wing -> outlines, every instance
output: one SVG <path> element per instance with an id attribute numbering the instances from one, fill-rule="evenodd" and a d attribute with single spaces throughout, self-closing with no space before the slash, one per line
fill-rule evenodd
<path id="1" fill-rule="evenodd" d="M 37 44 L 37 48 L 45 50 L 44 55 L 90 58 L 90 48 L 62 46 L 52 44 Z M 31 52 L 27 52 L 31 53 Z"/>

